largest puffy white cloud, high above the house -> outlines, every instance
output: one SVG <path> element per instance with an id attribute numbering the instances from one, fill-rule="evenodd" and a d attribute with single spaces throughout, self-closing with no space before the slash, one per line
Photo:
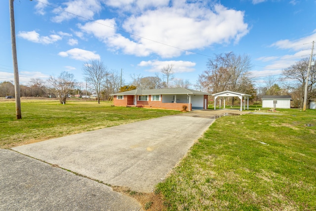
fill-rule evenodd
<path id="1" fill-rule="evenodd" d="M 116 1 L 116 5 L 121 2 Z M 167 1 L 159 2 L 151 1 L 148 5 L 167 4 Z M 122 27 L 130 33 L 129 37 L 119 34 L 114 19 L 97 20 L 102 24 L 91 22 L 79 28 L 92 33 L 111 49 L 137 56 L 155 53 L 163 58 L 180 56 L 186 53 L 184 50 L 202 49 L 214 43 L 238 42 L 249 31 L 242 11 L 220 4 L 210 9 L 202 3 L 175 2 L 173 6 L 148 9 L 123 21 Z M 107 3 L 115 4 L 114 1 Z"/>

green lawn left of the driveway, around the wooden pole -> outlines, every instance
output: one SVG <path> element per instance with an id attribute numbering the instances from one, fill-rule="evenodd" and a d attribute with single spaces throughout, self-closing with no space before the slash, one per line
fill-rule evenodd
<path id="1" fill-rule="evenodd" d="M 0 101 L 0 148 L 79 132 L 178 114 L 179 111 L 114 107 L 96 101 L 23 100 L 22 120 L 15 118 L 15 101 Z"/>

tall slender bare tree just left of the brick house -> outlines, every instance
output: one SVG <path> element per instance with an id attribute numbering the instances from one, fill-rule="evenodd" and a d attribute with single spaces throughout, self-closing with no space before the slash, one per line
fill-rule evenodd
<path id="1" fill-rule="evenodd" d="M 91 60 L 83 65 L 82 70 L 87 82 L 94 87 L 100 104 L 101 88 L 109 75 L 108 68 L 100 60 Z"/>

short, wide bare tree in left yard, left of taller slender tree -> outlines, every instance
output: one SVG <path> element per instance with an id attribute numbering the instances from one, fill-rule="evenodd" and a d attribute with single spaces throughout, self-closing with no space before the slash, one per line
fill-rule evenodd
<path id="1" fill-rule="evenodd" d="M 47 80 L 51 85 L 51 90 L 59 98 L 59 102 L 66 103 L 68 94 L 75 87 L 74 74 L 62 72 L 57 78 L 49 76 Z"/>

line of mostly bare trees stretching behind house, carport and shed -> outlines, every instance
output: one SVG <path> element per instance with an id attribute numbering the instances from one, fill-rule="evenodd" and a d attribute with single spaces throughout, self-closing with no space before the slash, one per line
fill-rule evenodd
<path id="1" fill-rule="evenodd" d="M 48 80 L 31 79 L 29 84 L 20 85 L 22 97 L 58 97 L 65 102 L 69 95 L 96 94 L 100 99 L 110 99 L 110 94 L 132 89 L 155 89 L 168 87 L 194 86 L 195 89 L 207 93 L 234 91 L 250 94 L 252 99 L 260 101 L 262 95 L 291 95 L 295 107 L 302 108 L 304 86 L 309 59 L 304 58 L 282 71 L 282 77 L 267 77 L 255 84 L 249 73 L 253 65 L 248 55 L 234 52 L 215 54 L 206 63 L 206 70 L 198 75 L 196 84 L 189 80 L 176 79 L 173 64 L 163 67 L 155 76 L 142 77 L 131 75 L 132 82 L 125 84 L 118 71 L 109 70 L 101 60 L 91 60 L 82 67 L 85 82 L 76 82 L 74 75 L 62 72 L 59 76 L 51 75 Z M 308 80 L 308 101 L 316 98 L 316 68 L 311 66 Z M 87 87 L 90 91 L 87 90 Z M 14 96 L 14 85 L 11 82 L 0 83 L 0 96 Z M 232 98 L 234 105 L 235 98 Z"/>

